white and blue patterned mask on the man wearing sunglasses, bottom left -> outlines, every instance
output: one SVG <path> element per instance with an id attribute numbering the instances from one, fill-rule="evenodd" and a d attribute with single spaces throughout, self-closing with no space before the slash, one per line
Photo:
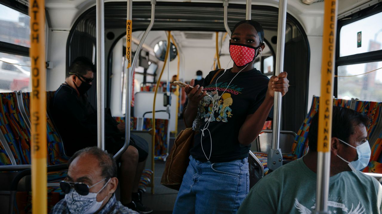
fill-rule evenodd
<path id="1" fill-rule="evenodd" d="M 70 213 L 72 214 L 92 214 L 97 212 L 98 209 L 102 206 L 104 200 L 98 202 L 97 194 L 101 192 L 110 179 L 106 182 L 106 184 L 98 191 L 98 192 L 89 192 L 87 195 L 80 195 L 77 191 L 74 191 L 72 188 L 70 193 L 65 195 L 66 205 L 69 208 Z"/>

